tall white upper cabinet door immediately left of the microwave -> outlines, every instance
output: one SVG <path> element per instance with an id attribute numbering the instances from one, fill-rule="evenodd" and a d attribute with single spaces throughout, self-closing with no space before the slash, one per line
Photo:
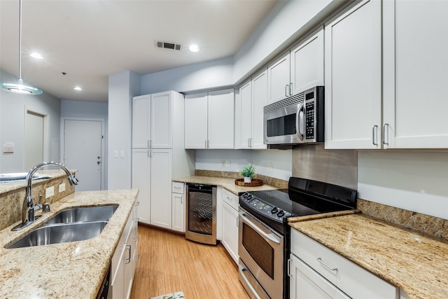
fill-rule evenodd
<path id="1" fill-rule="evenodd" d="M 263 144 L 263 108 L 267 105 L 267 70 L 252 79 L 252 139 L 251 148 L 267 148 Z"/>

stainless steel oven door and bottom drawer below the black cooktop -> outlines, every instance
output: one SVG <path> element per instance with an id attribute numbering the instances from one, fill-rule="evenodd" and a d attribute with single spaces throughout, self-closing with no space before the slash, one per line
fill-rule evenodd
<path id="1" fill-rule="evenodd" d="M 251 298 L 283 298 L 284 237 L 240 207 L 238 238 L 239 279 Z"/>

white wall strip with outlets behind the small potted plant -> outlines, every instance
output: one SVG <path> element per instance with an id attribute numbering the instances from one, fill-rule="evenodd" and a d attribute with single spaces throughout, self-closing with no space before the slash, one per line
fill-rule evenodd
<path id="1" fill-rule="evenodd" d="M 239 172 L 251 163 L 255 173 L 288 181 L 292 173 L 292 150 L 196 150 L 196 169 Z M 230 167 L 221 167 L 221 160 L 230 161 Z M 272 163 L 269 172 L 268 163 Z"/>

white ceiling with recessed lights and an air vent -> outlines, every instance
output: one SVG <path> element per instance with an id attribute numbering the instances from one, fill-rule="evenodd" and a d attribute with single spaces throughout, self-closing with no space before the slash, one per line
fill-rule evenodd
<path id="1" fill-rule="evenodd" d="M 23 0 L 22 78 L 59 99 L 107 102 L 111 74 L 151 74 L 234 55 L 275 2 Z M 19 0 L 0 0 L 0 69 L 17 78 L 18 27 Z M 156 48 L 156 40 L 183 48 Z M 190 43 L 200 52 L 191 53 Z M 43 60 L 29 57 L 34 51 Z"/>

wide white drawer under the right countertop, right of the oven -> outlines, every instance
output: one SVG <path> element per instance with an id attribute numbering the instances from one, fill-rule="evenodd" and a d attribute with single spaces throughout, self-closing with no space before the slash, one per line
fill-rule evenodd
<path id="1" fill-rule="evenodd" d="M 351 298 L 397 298 L 395 286 L 294 229 L 291 253 Z"/>

